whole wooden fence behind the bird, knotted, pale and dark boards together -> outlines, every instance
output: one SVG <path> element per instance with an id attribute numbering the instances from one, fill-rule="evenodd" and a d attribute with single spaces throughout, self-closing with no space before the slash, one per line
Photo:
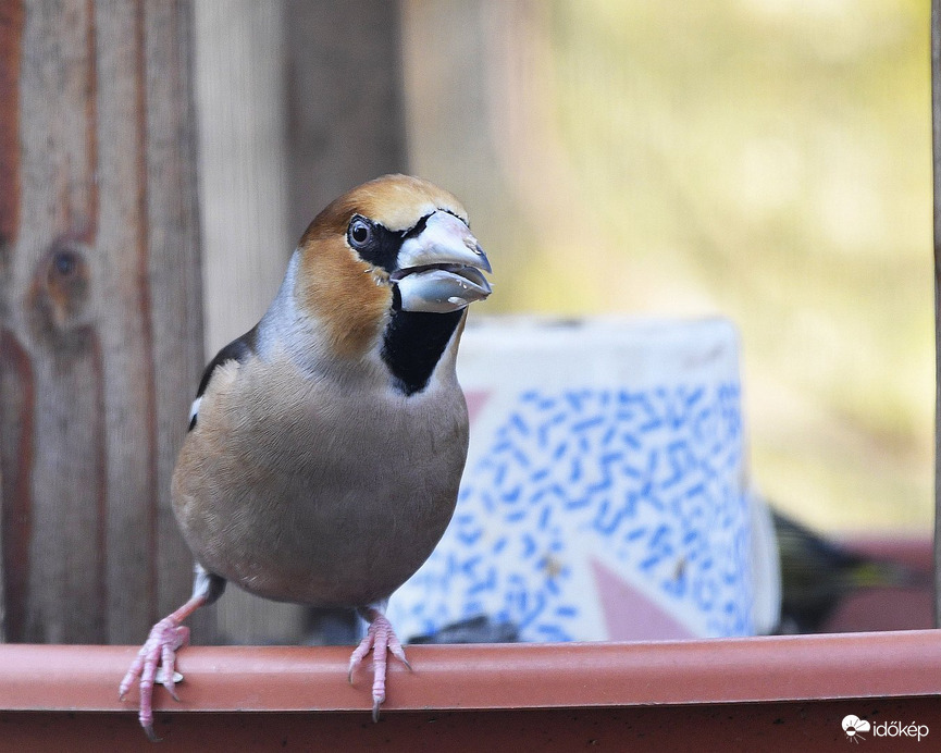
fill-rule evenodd
<path id="1" fill-rule="evenodd" d="M 327 198 L 406 168 L 397 28 L 381 0 L 0 4 L 0 639 L 137 643 L 188 595 L 170 478 L 207 350 Z M 301 629 L 226 602 L 198 640 Z"/>

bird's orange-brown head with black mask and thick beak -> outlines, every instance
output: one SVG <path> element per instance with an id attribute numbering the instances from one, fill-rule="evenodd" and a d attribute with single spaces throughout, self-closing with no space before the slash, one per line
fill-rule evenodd
<path id="1" fill-rule="evenodd" d="M 295 296 L 330 330 L 341 355 L 358 356 L 408 326 L 454 331 L 486 298 L 490 261 L 467 212 L 446 190 L 384 175 L 331 202 L 300 240 Z"/>

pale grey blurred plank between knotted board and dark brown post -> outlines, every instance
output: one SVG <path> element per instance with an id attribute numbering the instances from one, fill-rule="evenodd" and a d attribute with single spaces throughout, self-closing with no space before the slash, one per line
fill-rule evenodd
<path id="1" fill-rule="evenodd" d="M 297 243 L 287 233 L 284 59 L 272 54 L 284 44 L 283 14 L 282 0 L 195 8 L 207 360 L 261 318 Z M 193 637 L 292 643 L 302 624 L 296 605 L 230 588 L 195 615 Z"/>

